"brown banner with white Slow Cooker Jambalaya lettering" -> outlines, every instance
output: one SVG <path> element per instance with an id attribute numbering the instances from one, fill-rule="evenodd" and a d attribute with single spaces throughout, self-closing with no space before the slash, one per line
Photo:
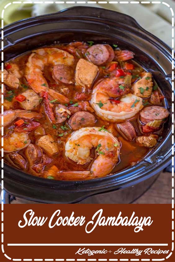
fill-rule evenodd
<path id="1" fill-rule="evenodd" d="M 2 231 L 3 262 L 175 261 L 168 204 L 6 204 Z"/>

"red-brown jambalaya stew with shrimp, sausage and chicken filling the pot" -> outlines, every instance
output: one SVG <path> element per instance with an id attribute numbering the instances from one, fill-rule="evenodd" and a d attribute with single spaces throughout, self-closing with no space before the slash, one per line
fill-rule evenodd
<path id="1" fill-rule="evenodd" d="M 88 41 L 5 63 L 4 161 L 56 180 L 103 177 L 138 163 L 162 139 L 169 112 L 152 74 L 133 58 L 115 44 Z"/>

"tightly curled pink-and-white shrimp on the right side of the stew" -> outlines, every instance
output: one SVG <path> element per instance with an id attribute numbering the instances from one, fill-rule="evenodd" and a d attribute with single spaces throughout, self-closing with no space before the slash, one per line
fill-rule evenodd
<path id="1" fill-rule="evenodd" d="M 142 98 L 134 94 L 126 94 L 128 92 L 127 85 L 118 85 L 117 78 L 109 79 L 108 83 L 106 80 L 101 81 L 94 88 L 91 99 L 91 105 L 96 111 L 96 115 L 111 122 L 129 119 L 143 107 Z M 114 81 L 116 82 L 115 85 Z M 109 82 L 113 84 L 109 85 Z M 119 96 L 121 96 L 119 99 L 114 99 Z"/>

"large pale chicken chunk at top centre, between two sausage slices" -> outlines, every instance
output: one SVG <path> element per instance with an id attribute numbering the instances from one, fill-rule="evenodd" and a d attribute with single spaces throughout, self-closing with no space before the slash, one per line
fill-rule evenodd
<path id="1" fill-rule="evenodd" d="M 98 73 L 98 67 L 85 59 L 79 59 L 75 71 L 75 84 L 83 87 L 91 87 Z"/>

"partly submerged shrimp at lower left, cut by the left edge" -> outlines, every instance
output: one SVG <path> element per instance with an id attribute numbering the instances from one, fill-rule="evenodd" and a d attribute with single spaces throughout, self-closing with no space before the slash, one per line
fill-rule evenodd
<path id="1" fill-rule="evenodd" d="M 4 153 L 19 151 L 30 144 L 30 139 L 26 133 L 13 132 L 3 138 Z"/>

